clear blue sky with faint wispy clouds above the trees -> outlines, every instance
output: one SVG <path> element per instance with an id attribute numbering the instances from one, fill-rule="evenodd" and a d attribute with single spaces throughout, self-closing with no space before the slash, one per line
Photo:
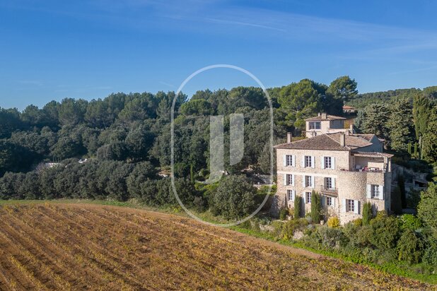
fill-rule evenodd
<path id="1" fill-rule="evenodd" d="M 437 85 L 437 1 L 0 0 L 0 107 L 177 90 L 231 64 L 267 87 Z M 187 84 L 255 85 L 230 69 Z"/>

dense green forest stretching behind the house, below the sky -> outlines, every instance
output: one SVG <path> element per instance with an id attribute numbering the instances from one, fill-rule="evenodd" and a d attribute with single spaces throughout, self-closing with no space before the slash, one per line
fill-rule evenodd
<path id="1" fill-rule="evenodd" d="M 330 85 L 303 79 L 268 89 L 274 143 L 283 142 L 287 131 L 301 136 L 307 117 L 340 115 L 344 104 L 362 105 L 355 121 L 358 131 L 384 138 L 400 162 L 417 158 L 436 163 L 437 87 L 360 95 L 356 86 L 354 79 L 342 76 Z M 269 103 L 260 88 L 252 87 L 201 90 L 190 98 L 174 92 L 114 93 L 91 101 L 65 98 L 42 108 L 29 105 L 22 112 L 1 108 L 0 198 L 137 198 L 152 206 L 175 205 L 168 178 L 174 99 L 174 174 L 182 200 L 229 218 L 245 215 L 257 203 L 256 191 L 245 195 L 244 209 L 229 212 L 214 198 L 220 185 L 199 186 L 197 181 L 209 175 L 210 115 L 225 117 L 225 141 L 229 114 L 245 117 L 243 160 L 229 165 L 225 155 L 226 172 L 269 172 Z M 240 176 L 220 183 L 242 196 L 238 190 L 250 182 Z"/>

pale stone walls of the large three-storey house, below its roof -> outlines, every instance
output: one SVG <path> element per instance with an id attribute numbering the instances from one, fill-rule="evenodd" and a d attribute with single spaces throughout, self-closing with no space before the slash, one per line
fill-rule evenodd
<path id="1" fill-rule="evenodd" d="M 294 165 L 286 165 L 284 156 L 294 156 Z M 305 167 L 305 156 L 314 157 L 314 165 Z M 323 169 L 324 157 L 331 157 L 334 162 L 333 169 Z M 287 190 L 295 191 L 295 196 L 303 197 L 305 213 L 311 209 L 311 204 L 305 197 L 306 192 L 313 190 L 322 195 L 322 206 L 330 215 L 337 215 L 342 224 L 362 217 L 363 203 L 371 202 L 376 210 L 390 210 L 391 172 L 388 172 L 388 164 L 384 162 L 368 162 L 369 165 L 378 167 L 382 172 L 356 172 L 351 165 L 352 155 L 347 150 L 293 150 L 276 149 L 277 165 L 277 192 L 276 207 L 294 207 L 293 199 L 287 196 Z M 360 157 L 361 161 L 363 158 Z M 292 184 L 287 184 L 286 175 L 292 175 Z M 305 176 L 313 179 L 310 185 L 305 185 Z M 332 178 L 332 189 L 325 186 L 325 178 Z M 383 187 L 383 199 L 368 197 L 368 185 Z M 332 199 L 332 205 L 327 206 L 326 197 Z M 293 198 L 293 197 L 291 197 Z M 346 201 L 358 201 L 355 212 L 346 209 Z"/>

